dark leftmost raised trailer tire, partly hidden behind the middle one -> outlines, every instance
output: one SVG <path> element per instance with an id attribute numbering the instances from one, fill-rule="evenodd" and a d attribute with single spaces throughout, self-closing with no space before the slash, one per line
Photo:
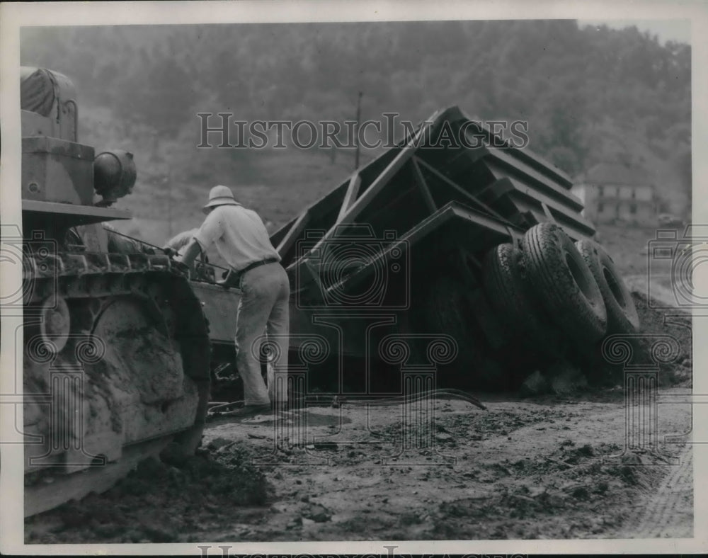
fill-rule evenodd
<path id="1" fill-rule="evenodd" d="M 542 315 L 520 269 L 523 254 L 513 244 L 499 244 L 484 258 L 482 285 L 498 314 L 508 342 L 520 341 L 542 355 L 561 351 L 561 333 Z"/>

